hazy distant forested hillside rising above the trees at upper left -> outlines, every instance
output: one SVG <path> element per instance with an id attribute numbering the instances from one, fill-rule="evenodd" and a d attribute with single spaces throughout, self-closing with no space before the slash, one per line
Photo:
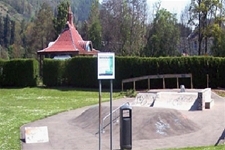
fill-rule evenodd
<path id="1" fill-rule="evenodd" d="M 54 12 L 57 5 L 62 0 L 0 0 L 0 15 L 9 15 L 14 20 L 29 20 L 37 14 L 41 5 L 48 3 Z M 84 21 L 88 18 L 91 4 L 93 0 L 68 0 L 71 4 L 71 9 L 77 16 L 77 21 Z"/>

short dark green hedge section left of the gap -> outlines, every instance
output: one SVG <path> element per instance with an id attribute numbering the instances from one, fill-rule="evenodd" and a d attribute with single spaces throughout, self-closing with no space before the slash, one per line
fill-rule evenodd
<path id="1" fill-rule="evenodd" d="M 0 60 L 0 86 L 37 86 L 38 62 L 33 59 Z"/>

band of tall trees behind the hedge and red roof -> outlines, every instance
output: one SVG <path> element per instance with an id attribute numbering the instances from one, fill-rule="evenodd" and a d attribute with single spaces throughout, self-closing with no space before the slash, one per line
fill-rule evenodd
<path id="1" fill-rule="evenodd" d="M 65 27 L 70 5 L 61 1 L 53 11 L 49 3 L 43 3 L 29 22 L 14 22 L 8 17 L 7 23 L 7 16 L 0 19 L 0 58 L 37 57 L 36 52 Z M 198 47 L 194 55 L 224 56 L 224 6 L 225 0 L 190 0 L 178 22 L 177 15 L 161 8 L 160 1 L 148 8 L 146 0 L 103 0 L 101 4 L 93 0 L 89 18 L 81 22 L 74 15 L 74 24 L 95 49 L 116 55 L 191 55 L 194 41 Z"/>

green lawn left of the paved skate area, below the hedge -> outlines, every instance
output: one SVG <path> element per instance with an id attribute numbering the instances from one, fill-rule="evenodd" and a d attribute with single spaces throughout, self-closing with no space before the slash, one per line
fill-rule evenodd
<path id="1" fill-rule="evenodd" d="M 113 99 L 119 97 L 113 93 Z M 20 127 L 59 112 L 98 103 L 98 90 L 72 88 L 0 89 L 0 150 L 20 150 Z M 102 101 L 109 100 L 102 92 Z"/>

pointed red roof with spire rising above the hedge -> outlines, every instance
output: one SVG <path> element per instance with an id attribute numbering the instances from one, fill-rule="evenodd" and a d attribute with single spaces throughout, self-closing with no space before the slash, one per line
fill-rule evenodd
<path id="1" fill-rule="evenodd" d="M 54 42 L 49 43 L 47 48 L 38 51 L 38 54 L 44 53 L 96 55 L 98 51 L 93 49 L 91 41 L 84 41 L 82 39 L 73 24 L 73 14 L 69 9 L 65 29 Z"/>

